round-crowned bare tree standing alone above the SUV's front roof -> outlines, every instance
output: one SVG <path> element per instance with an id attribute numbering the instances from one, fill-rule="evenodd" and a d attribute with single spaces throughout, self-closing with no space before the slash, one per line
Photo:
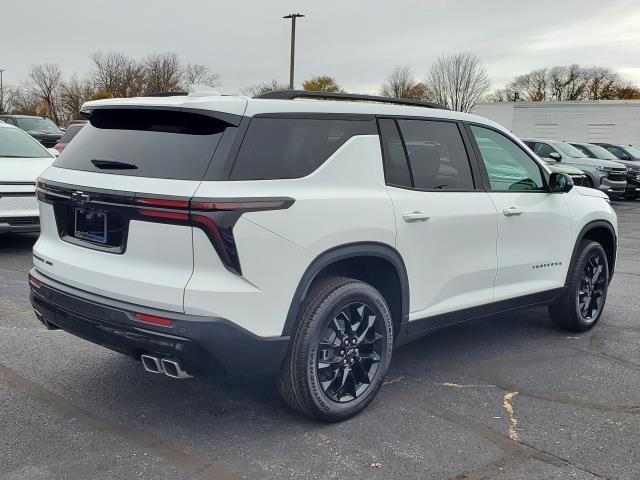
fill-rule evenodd
<path id="1" fill-rule="evenodd" d="M 461 112 L 470 112 L 489 91 L 487 72 L 471 53 L 439 57 L 425 84 L 435 102 Z"/>

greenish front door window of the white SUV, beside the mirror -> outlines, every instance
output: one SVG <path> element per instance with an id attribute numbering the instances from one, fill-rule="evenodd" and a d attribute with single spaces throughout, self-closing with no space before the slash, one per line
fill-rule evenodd
<path id="1" fill-rule="evenodd" d="M 488 128 L 471 126 L 491 190 L 545 190 L 540 166 L 515 142 Z"/>

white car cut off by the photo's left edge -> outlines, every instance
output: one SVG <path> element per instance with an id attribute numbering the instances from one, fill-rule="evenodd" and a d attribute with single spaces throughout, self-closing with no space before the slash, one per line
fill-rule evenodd
<path id="1" fill-rule="evenodd" d="M 28 133 L 0 123 L 0 235 L 40 231 L 36 179 L 55 157 Z"/>

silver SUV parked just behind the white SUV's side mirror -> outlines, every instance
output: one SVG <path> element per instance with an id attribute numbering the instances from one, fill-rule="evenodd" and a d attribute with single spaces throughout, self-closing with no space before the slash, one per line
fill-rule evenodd
<path id="1" fill-rule="evenodd" d="M 545 162 L 579 168 L 587 175 L 587 186 L 605 192 L 613 198 L 621 197 L 627 188 L 627 169 L 611 160 L 589 158 L 573 145 L 557 140 L 523 139 Z"/>

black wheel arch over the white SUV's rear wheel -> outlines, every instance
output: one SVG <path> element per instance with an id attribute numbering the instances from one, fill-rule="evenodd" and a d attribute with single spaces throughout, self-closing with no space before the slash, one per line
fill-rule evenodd
<path id="1" fill-rule="evenodd" d="M 383 274 L 376 276 L 376 272 Z M 396 278 L 389 278 L 388 273 L 395 274 Z M 402 256 L 395 248 L 383 243 L 357 242 L 326 250 L 307 267 L 291 300 L 283 336 L 293 333 L 309 287 L 315 280 L 328 275 L 352 277 L 377 288 L 389 305 L 396 334 L 408 321 L 409 279 Z"/>

